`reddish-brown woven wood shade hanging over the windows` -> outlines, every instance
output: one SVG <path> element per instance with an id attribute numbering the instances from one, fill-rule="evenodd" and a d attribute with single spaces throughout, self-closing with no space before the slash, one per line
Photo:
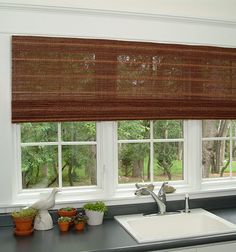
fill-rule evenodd
<path id="1" fill-rule="evenodd" d="M 12 121 L 236 118 L 236 48 L 12 38 Z"/>

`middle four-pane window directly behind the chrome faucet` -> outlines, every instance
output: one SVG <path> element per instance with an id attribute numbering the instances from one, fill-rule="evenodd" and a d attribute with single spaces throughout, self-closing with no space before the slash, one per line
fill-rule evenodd
<path id="1" fill-rule="evenodd" d="M 119 183 L 183 180 L 183 121 L 118 122 Z"/>

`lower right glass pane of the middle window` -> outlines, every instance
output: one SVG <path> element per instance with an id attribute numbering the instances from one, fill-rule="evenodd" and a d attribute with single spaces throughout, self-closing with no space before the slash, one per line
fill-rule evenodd
<path id="1" fill-rule="evenodd" d="M 183 179 L 183 143 L 155 143 L 154 181 Z"/>

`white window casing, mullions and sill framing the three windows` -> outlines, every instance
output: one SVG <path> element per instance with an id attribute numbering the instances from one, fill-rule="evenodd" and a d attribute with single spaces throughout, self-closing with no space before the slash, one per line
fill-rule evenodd
<path id="1" fill-rule="evenodd" d="M 18 147 L 20 126 L 17 126 Z M 119 184 L 118 177 L 118 146 L 124 140 L 118 139 L 117 122 L 97 122 L 97 186 L 79 186 L 64 187 L 58 195 L 58 204 L 73 203 L 80 205 L 85 201 L 103 199 L 110 204 L 128 204 L 149 202 L 149 197 L 137 198 L 134 196 L 134 183 Z M 216 179 L 202 179 L 202 122 L 198 120 L 184 121 L 183 142 L 184 148 L 184 174 L 183 180 L 170 181 L 170 184 L 177 188 L 175 194 L 168 195 L 169 200 L 182 199 L 183 194 L 188 192 L 192 197 L 209 197 L 209 192 L 214 195 L 227 195 L 234 188 L 235 177 L 222 178 L 220 183 Z M 179 139 L 176 139 L 176 141 Z M 134 141 L 134 140 L 131 140 Z M 145 142 L 146 140 L 144 140 Z M 171 140 L 167 140 L 171 141 Z M 125 140 L 127 142 L 127 140 Z M 128 141 L 129 142 L 129 141 Z M 134 141 L 135 142 L 135 141 Z M 139 141 L 138 141 L 139 142 Z M 153 140 L 148 139 L 149 144 Z M 61 143 L 62 145 L 65 143 Z M 19 169 L 20 148 L 18 148 L 18 168 L 17 171 L 17 190 L 15 202 L 17 204 L 26 204 L 32 202 L 36 195 L 40 192 L 48 191 L 48 189 L 21 189 L 21 172 Z M 162 181 L 153 181 L 156 188 L 160 186 Z M 209 191 L 210 190 L 210 191 Z M 24 202 L 24 203 L 23 203 Z"/>

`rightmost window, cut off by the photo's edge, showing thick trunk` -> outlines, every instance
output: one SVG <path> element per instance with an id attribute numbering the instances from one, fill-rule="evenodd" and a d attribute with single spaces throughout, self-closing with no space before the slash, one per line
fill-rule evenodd
<path id="1" fill-rule="evenodd" d="M 202 123 L 202 177 L 232 178 L 236 173 L 236 121 Z"/>

